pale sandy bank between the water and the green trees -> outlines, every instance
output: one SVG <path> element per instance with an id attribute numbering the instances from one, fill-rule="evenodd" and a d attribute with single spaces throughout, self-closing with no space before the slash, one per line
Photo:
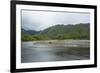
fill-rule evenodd
<path id="1" fill-rule="evenodd" d="M 47 45 L 47 47 L 90 47 L 90 40 L 42 40 L 28 42 L 35 46 L 39 45 L 39 47 L 42 47 L 42 45 Z"/>

